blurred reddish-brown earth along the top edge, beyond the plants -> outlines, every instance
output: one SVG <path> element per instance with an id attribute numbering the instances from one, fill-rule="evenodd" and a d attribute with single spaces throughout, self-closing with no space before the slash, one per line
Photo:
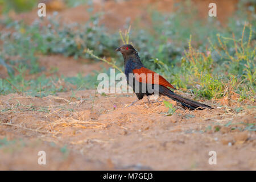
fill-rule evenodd
<path id="1" fill-rule="evenodd" d="M 154 10 L 162 13 L 170 13 L 175 11 L 175 3 L 183 2 L 179 0 L 130 0 L 130 1 L 104 1 L 94 0 L 93 11 L 90 13 L 88 9 L 92 6 L 81 5 L 74 8 L 67 8 L 61 3 L 61 0 L 52 0 L 46 3 L 48 15 L 53 11 L 58 11 L 57 15 L 66 23 L 79 22 L 85 23 L 90 18 L 91 14 L 103 13 L 100 15 L 101 23 L 105 24 L 110 30 L 119 30 L 126 24 L 126 20 L 130 19 L 131 24 L 139 20 L 140 26 L 150 26 L 150 13 Z M 193 0 L 192 5 L 196 7 L 201 18 L 208 18 L 209 3 L 216 3 L 217 5 L 217 18 L 222 22 L 228 19 L 234 11 L 236 11 L 236 4 L 238 0 Z M 10 13 L 10 16 L 15 20 L 24 20 L 27 23 L 33 22 L 38 19 L 37 9 L 30 13 L 15 14 Z M 188 15 L 189 16 L 189 15 Z"/>

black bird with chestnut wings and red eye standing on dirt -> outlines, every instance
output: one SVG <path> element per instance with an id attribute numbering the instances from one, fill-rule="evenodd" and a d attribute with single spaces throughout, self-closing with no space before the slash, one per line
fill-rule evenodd
<path id="1" fill-rule="evenodd" d="M 174 86 L 170 84 L 166 79 L 164 79 L 162 76 L 158 76 L 158 82 L 154 84 L 154 74 L 157 74 L 150 69 L 147 69 L 144 67 L 142 64 L 141 60 L 139 59 L 138 52 L 131 46 L 130 44 L 125 44 L 119 48 L 117 48 L 115 51 L 120 51 L 123 55 L 123 59 L 125 61 L 125 75 L 126 75 L 126 80 L 128 84 L 133 88 L 135 94 L 138 97 L 138 100 L 141 100 L 144 95 L 150 96 L 151 92 L 148 92 L 148 84 L 150 84 L 151 88 L 154 89 L 156 86 L 158 86 L 158 93 L 159 95 L 164 95 L 172 100 L 178 101 L 181 103 L 181 105 L 188 107 L 190 109 L 213 109 L 212 107 L 201 104 L 200 102 L 192 101 L 189 100 L 188 98 L 184 98 L 179 96 L 178 94 L 172 92 L 169 88 L 175 89 Z M 129 77 L 129 74 L 133 74 L 135 76 L 132 77 L 133 80 L 131 80 L 131 77 Z M 136 74 L 137 73 L 137 74 Z M 144 74 L 142 74 L 144 73 Z M 148 73 L 151 73 L 148 74 Z M 144 75 L 146 78 L 138 77 L 138 75 Z M 150 76 L 148 76 L 150 75 Z M 130 78 L 130 79 L 129 79 Z M 137 82 L 137 83 L 136 83 Z M 156 86 L 155 86 L 156 85 Z M 139 88 L 135 88 L 135 87 Z M 142 86 L 146 86 L 146 92 L 142 92 Z M 169 88 L 168 88 L 169 87 Z"/>

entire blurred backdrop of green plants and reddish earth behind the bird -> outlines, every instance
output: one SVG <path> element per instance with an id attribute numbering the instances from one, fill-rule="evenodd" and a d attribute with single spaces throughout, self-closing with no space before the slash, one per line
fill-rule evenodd
<path id="1" fill-rule="evenodd" d="M 0 0 L 0 94 L 22 92 L 43 97 L 70 89 L 95 88 L 97 73 L 109 73 L 107 67 L 86 76 L 59 76 L 55 74 L 59 68 L 43 67 L 40 57 L 60 55 L 92 63 L 107 57 L 110 65 L 122 70 L 122 57 L 114 50 L 122 44 L 122 36 L 126 40 L 129 36 L 127 41 L 138 49 L 146 67 L 161 73 L 176 88 L 208 99 L 228 97 L 233 92 L 240 101 L 255 100 L 255 1 L 230 1 L 230 7 L 217 6 L 217 18 L 206 15 L 209 9 L 203 1 L 197 1 L 198 6 L 194 6 L 196 1 L 177 1 L 172 3 L 174 11 L 162 11 L 164 6 L 148 1 L 148 8 L 141 10 L 146 15 L 133 20 L 126 17 L 123 26 L 109 17 L 122 16 L 122 10 L 114 14 L 122 5 L 131 6 L 131 16 L 138 13 L 138 1 L 40 2 L 50 9 L 47 18 L 28 23 L 20 17 L 36 16 L 30 12 L 35 12 L 37 1 Z M 89 18 L 81 21 L 79 10 Z M 67 18 L 75 13 L 78 23 L 76 19 L 72 23 L 61 19 L 61 15 Z M 130 24 L 131 30 L 125 34 Z M 93 52 L 86 53 L 86 49 Z M 52 84 L 59 80 L 69 86 Z"/>

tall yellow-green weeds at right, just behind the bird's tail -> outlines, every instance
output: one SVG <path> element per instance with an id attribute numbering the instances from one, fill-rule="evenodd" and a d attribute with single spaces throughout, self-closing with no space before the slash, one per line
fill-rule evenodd
<path id="1" fill-rule="evenodd" d="M 243 42 L 246 27 L 250 31 L 247 41 Z M 211 47 L 206 53 L 193 49 L 190 38 L 189 49 L 185 51 L 185 57 L 181 60 L 181 69 L 175 77 L 181 76 L 176 80 L 176 84 L 184 89 L 191 88 L 197 96 L 208 99 L 222 98 L 231 92 L 237 94 L 251 92 L 249 97 L 242 94 L 241 98 L 253 97 L 256 73 L 255 44 L 250 43 L 252 32 L 251 25 L 245 24 L 240 39 L 217 35 L 219 46 L 213 46 L 209 40 Z M 246 47 L 243 46 L 245 44 Z M 228 48 L 227 45 L 230 47 Z M 213 52 L 220 55 L 221 61 L 212 56 Z"/>

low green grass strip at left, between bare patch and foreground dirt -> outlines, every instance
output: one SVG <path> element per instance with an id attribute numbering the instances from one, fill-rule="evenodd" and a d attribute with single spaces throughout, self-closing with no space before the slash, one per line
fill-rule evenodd
<path id="1" fill-rule="evenodd" d="M 20 93 L 28 96 L 44 97 L 49 94 L 55 95 L 57 92 L 67 92 L 72 90 L 72 85 L 76 90 L 92 89 L 97 85 L 97 74 L 82 77 L 46 77 L 45 75 L 38 78 L 25 80 L 24 76 L 18 75 L 8 78 L 8 82 L 0 78 L 0 94 L 9 94 L 16 92 L 17 88 Z M 13 87 L 15 86 L 15 88 Z"/>

